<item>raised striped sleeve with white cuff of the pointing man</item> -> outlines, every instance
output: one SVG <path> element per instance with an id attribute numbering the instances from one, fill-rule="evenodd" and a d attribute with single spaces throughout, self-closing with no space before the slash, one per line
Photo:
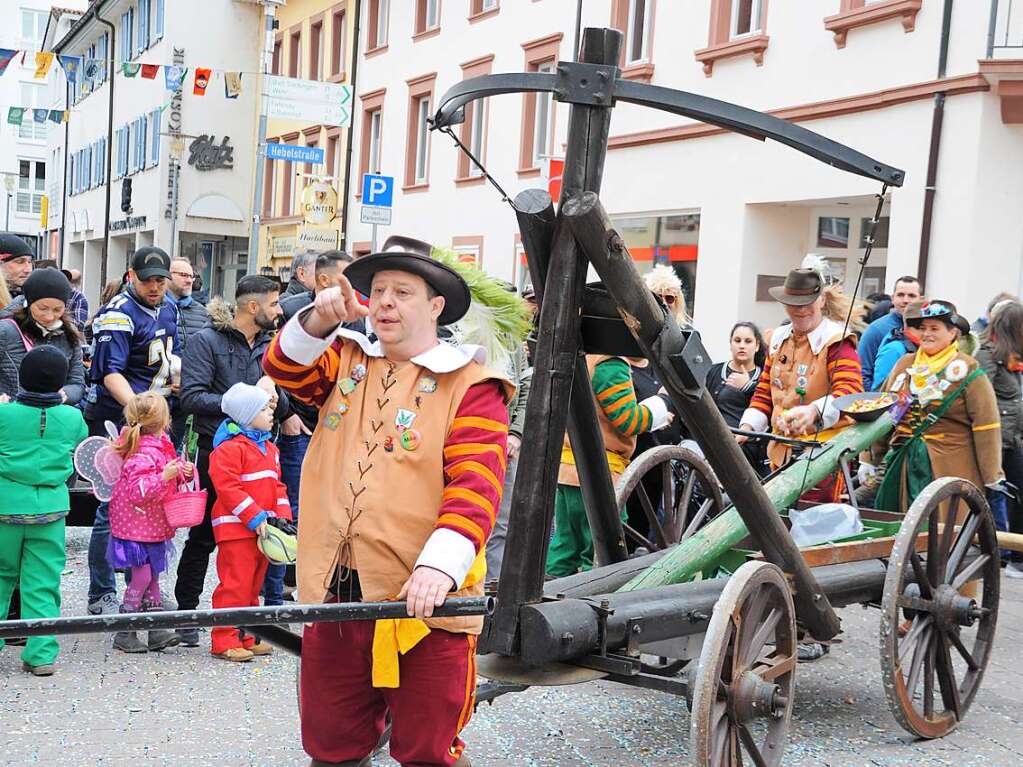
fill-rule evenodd
<path id="1" fill-rule="evenodd" d="M 313 339 L 293 317 L 267 347 L 263 370 L 291 396 L 322 407 L 338 379 L 344 343 Z"/>

